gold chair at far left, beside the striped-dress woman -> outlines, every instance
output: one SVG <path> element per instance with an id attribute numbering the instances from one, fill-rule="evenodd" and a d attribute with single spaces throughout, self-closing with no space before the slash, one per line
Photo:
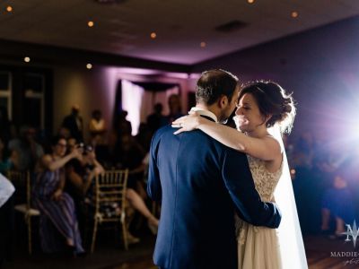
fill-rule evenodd
<path id="1" fill-rule="evenodd" d="M 30 171 L 9 170 L 7 178 L 15 187 L 15 211 L 24 215 L 25 222 L 28 226 L 28 250 L 32 253 L 31 242 L 31 218 L 39 216 L 39 210 L 31 207 L 31 177 Z"/>

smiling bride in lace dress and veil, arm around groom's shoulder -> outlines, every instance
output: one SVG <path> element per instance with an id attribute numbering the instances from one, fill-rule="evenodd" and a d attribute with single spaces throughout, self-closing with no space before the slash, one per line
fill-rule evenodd
<path id="1" fill-rule="evenodd" d="M 219 142 L 248 154 L 262 201 L 275 201 L 282 212 L 278 229 L 256 227 L 237 219 L 238 263 L 244 269 L 308 268 L 293 187 L 281 134 L 290 133 L 293 98 L 275 82 L 254 82 L 241 89 L 234 121 L 240 131 L 218 125 L 197 113 L 180 117 L 175 132 L 200 129 Z"/>

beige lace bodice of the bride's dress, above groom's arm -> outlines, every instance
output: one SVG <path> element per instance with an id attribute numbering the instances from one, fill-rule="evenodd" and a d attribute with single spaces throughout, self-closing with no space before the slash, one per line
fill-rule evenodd
<path id="1" fill-rule="evenodd" d="M 247 156 L 247 159 L 250 163 L 250 171 L 260 198 L 263 202 L 273 202 L 276 185 L 282 176 L 283 161 L 281 167 L 276 172 L 271 173 L 266 169 L 265 161 L 251 156 Z"/>

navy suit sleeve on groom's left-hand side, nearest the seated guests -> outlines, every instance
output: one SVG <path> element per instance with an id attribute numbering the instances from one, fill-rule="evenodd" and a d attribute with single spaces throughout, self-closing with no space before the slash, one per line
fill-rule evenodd
<path id="1" fill-rule="evenodd" d="M 147 193 L 153 201 L 161 202 L 162 186 L 160 180 L 160 173 L 157 167 L 158 145 L 159 139 L 156 135 L 154 135 L 150 148 Z"/>

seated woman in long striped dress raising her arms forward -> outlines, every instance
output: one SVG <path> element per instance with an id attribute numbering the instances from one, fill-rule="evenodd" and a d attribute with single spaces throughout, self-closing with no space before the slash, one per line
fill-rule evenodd
<path id="1" fill-rule="evenodd" d="M 56 136 L 52 139 L 52 153 L 44 155 L 36 169 L 33 187 L 33 203 L 39 209 L 41 247 L 46 253 L 66 252 L 70 255 L 84 253 L 74 201 L 63 189 L 65 165 L 82 152 L 74 148 L 66 155 L 66 140 Z"/>

